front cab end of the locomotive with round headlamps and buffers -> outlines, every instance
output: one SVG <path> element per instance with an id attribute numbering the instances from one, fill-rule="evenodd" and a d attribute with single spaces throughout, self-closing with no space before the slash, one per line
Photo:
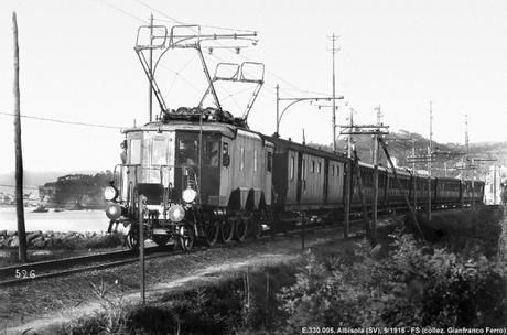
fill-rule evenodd
<path id="1" fill-rule="evenodd" d="M 188 123 L 153 126 L 123 131 L 122 164 L 116 166 L 115 181 L 105 191 L 109 231 L 114 223 L 130 225 L 128 241 L 137 246 L 142 195 L 147 237 L 159 245 L 171 238 L 180 239 L 180 245 L 193 244 L 202 235 L 196 215 L 219 198 L 222 134 Z"/>

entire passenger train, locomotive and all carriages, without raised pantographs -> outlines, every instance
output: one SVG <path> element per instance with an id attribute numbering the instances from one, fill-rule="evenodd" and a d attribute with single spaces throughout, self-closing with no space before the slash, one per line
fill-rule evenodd
<path id="1" fill-rule="evenodd" d="M 287 230 L 303 215 L 309 224 L 341 220 L 347 177 L 350 210 L 360 212 L 355 169 L 366 203 L 373 199 L 373 165 L 249 130 L 218 109 L 183 108 L 123 133 L 123 161 L 105 198 L 109 230 L 115 223 L 130 227 L 131 248 L 141 220 L 147 238 L 183 250 Z M 481 181 L 431 177 L 429 193 L 428 176 L 398 170 L 400 188 L 389 169 L 378 169 L 379 209 L 406 207 L 404 196 L 419 209 L 429 196 L 434 208 L 483 202 Z"/>

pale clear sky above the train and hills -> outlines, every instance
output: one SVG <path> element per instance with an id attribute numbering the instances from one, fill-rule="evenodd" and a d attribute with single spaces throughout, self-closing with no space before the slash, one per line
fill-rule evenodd
<path id="1" fill-rule="evenodd" d="M 217 62 L 265 64 L 266 83 L 248 119 L 260 132 L 274 132 L 277 84 L 282 98 L 332 94 L 334 33 L 336 95 L 344 96 L 338 125 L 350 107 L 357 123 L 373 123 L 380 106 L 391 130 L 428 137 L 432 101 L 436 141 L 463 143 L 465 115 L 471 142 L 507 140 L 506 1 L 7 0 L 0 2 L 0 173 L 14 169 L 13 117 L 2 115 L 13 112 L 12 11 L 21 114 L 111 127 L 23 118 L 25 170 L 104 171 L 119 163 L 119 128 L 148 120 L 148 83 L 133 46 L 151 13 L 160 25 L 258 32 L 257 45 L 239 55 L 215 48 L 206 60 L 212 72 Z M 199 66 L 192 51 L 162 58 L 157 77 L 171 108 L 198 104 L 206 88 Z M 251 88 L 224 86 L 220 100 L 240 116 Z M 306 141 L 330 144 L 331 114 L 330 107 L 295 104 L 280 133 L 301 141 L 304 128 Z"/>

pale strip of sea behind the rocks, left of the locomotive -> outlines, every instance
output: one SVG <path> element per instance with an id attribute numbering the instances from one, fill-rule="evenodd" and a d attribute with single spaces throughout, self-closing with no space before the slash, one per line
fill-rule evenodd
<path id="1" fill-rule="evenodd" d="M 104 209 L 63 210 L 33 213 L 34 207 L 24 208 L 26 231 L 106 231 L 109 219 Z M 120 225 L 121 226 L 121 225 Z M 0 207 L 0 230 L 18 230 L 15 207 Z"/>

